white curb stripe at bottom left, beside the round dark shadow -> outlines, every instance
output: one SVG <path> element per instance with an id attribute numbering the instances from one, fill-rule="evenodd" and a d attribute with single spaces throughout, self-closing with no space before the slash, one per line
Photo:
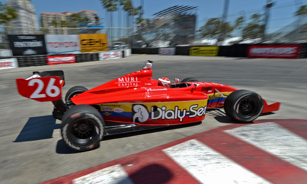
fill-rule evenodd
<path id="1" fill-rule="evenodd" d="M 74 184 L 132 184 L 121 165 L 113 165 L 72 180 Z"/>

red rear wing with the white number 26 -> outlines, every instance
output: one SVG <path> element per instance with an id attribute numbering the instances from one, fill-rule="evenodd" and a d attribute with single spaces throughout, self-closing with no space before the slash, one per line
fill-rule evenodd
<path id="1" fill-rule="evenodd" d="M 28 78 L 16 79 L 19 94 L 39 102 L 60 100 L 64 83 L 62 70 L 34 71 Z"/>

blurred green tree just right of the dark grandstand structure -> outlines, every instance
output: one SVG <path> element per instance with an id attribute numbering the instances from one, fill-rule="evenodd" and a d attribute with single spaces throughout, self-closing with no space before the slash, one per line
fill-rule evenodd
<path id="1" fill-rule="evenodd" d="M 222 34 L 222 25 L 225 26 L 225 37 L 230 36 L 234 27 L 229 22 L 222 23 L 219 18 L 211 18 L 207 23 L 199 30 L 200 34 L 204 38 L 218 38 Z"/>

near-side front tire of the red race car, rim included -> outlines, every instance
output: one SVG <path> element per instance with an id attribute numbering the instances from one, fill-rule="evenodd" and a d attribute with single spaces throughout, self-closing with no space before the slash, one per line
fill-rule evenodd
<path id="1" fill-rule="evenodd" d="M 236 90 L 224 102 L 226 115 L 241 123 L 254 121 L 259 117 L 262 110 L 262 98 L 250 90 Z"/>

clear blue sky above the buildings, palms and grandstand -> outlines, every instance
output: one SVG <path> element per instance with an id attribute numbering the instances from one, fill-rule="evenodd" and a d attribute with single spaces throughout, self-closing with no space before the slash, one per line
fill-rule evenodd
<path id="1" fill-rule="evenodd" d="M 139 6 L 141 0 L 132 0 L 134 6 Z M 5 3 L 5 0 L 1 0 Z M 101 6 L 99 0 L 32 0 L 34 5 L 38 22 L 42 12 L 61 13 L 64 11 L 78 12 L 81 10 L 92 10 L 103 18 L 104 25 L 106 25 L 105 11 Z M 227 21 L 234 21 L 239 16 L 250 17 L 253 13 L 264 13 L 264 5 L 267 0 L 229 0 L 228 18 Z M 207 19 L 221 17 L 223 11 L 224 0 L 144 0 L 144 18 L 153 18 L 155 14 L 166 8 L 175 5 L 190 5 L 197 6 L 197 28 L 204 25 Z M 286 26 L 287 24 L 296 20 L 293 13 L 300 5 L 306 5 L 307 0 L 275 0 L 275 6 L 270 11 L 270 22 L 268 24 L 268 31 L 273 32 Z M 118 27 L 117 21 L 118 13 L 114 13 L 113 27 Z M 123 13 L 122 13 L 123 15 Z M 40 23 L 39 23 L 40 25 Z"/>

